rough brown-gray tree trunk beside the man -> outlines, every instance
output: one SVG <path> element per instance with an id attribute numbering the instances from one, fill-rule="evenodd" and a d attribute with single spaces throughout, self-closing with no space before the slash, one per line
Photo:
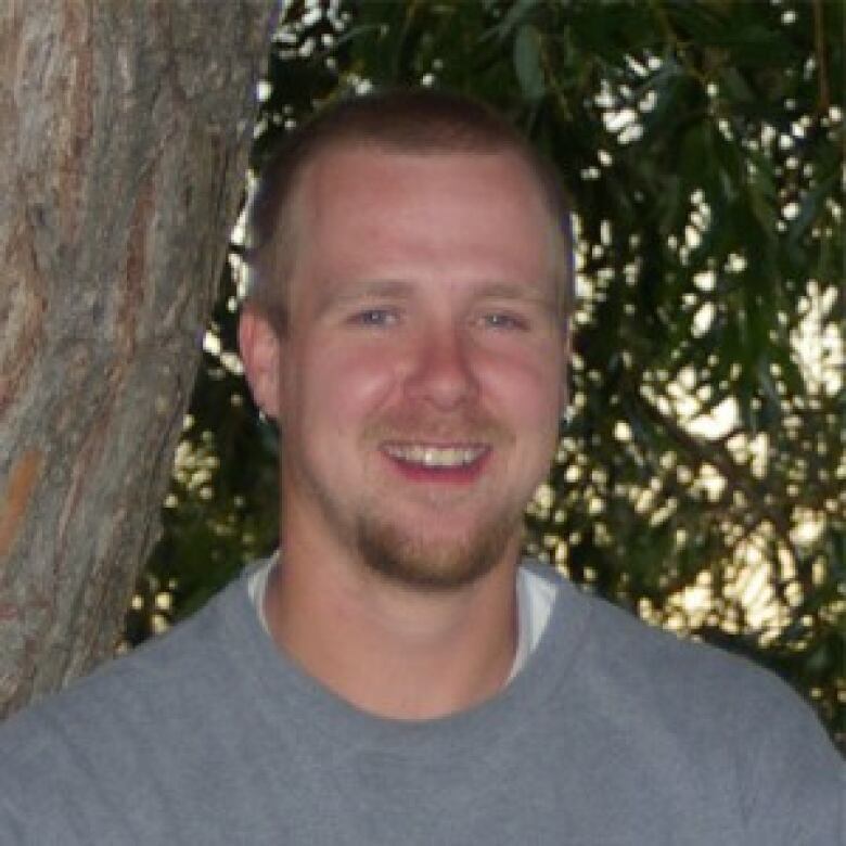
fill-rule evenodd
<path id="1" fill-rule="evenodd" d="M 158 531 L 273 7 L 0 10 L 0 714 L 114 649 Z"/>

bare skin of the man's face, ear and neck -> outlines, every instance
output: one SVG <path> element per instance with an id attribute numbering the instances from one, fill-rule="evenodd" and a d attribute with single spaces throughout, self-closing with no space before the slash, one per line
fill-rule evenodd
<path id="1" fill-rule="evenodd" d="M 290 328 L 251 309 L 240 326 L 284 436 L 271 633 L 364 710 L 464 709 L 513 661 L 522 513 L 564 399 L 549 213 L 510 154 L 342 149 L 295 215 Z M 433 469 L 423 448 L 472 460 Z"/>

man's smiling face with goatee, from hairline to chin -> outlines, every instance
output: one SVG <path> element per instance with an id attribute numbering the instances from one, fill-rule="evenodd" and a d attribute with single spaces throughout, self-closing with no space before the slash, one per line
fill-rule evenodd
<path id="1" fill-rule="evenodd" d="M 287 529 L 409 585 L 513 561 L 564 377 L 560 254 L 526 166 L 333 151 L 296 203 L 270 409 Z"/>

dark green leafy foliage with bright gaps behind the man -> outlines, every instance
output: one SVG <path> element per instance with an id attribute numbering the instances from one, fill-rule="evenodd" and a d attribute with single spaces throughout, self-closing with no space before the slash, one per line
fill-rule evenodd
<path id="1" fill-rule="evenodd" d="M 844 12 L 828 0 L 298 2 L 256 167 L 319 104 L 490 103 L 573 197 L 573 415 L 526 549 L 773 668 L 843 742 Z M 124 648 L 274 546 L 278 445 L 235 349 L 238 233 Z"/>

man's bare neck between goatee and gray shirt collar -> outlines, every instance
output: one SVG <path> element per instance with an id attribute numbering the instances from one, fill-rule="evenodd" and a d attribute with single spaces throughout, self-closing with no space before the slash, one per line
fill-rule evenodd
<path id="1" fill-rule="evenodd" d="M 285 534 L 265 599 L 274 641 L 306 672 L 394 719 L 444 717 L 503 687 L 517 637 L 516 538 L 485 576 L 443 591 L 395 584 L 316 541 Z"/>

